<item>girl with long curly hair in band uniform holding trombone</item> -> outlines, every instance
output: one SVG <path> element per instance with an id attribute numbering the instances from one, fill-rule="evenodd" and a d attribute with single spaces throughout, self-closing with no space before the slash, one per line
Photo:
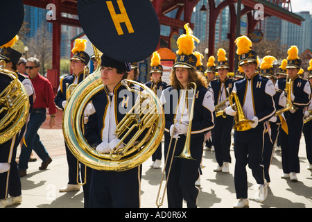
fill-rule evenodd
<path id="1" fill-rule="evenodd" d="M 191 137 L 190 148 L 191 156 L 196 160 L 173 158 L 167 185 L 168 207 L 171 208 L 181 208 L 183 199 L 187 201 L 187 207 L 197 207 L 199 190 L 195 183 L 199 177 L 198 169 L 202 160 L 205 133 L 214 128 L 214 105 L 211 94 L 207 90 L 207 80 L 205 76 L 198 74 L 195 70 L 197 58 L 193 55 L 193 40 L 199 40 L 193 36 L 189 24 L 185 24 L 184 28 L 187 34 L 181 35 L 177 39 L 179 50 L 171 74 L 171 87 L 164 89 L 160 99 L 166 118 L 164 153 L 166 156 L 169 152 L 169 157 L 180 155 L 187 139 L 185 134 L 188 131 L 188 123 L 192 121 L 191 135 L 189 135 Z M 195 101 L 185 101 L 186 90 L 184 89 L 190 82 L 197 85 Z M 194 102 L 193 119 L 189 119 L 190 107 L 187 108 L 187 105 L 192 102 Z M 187 104 L 184 110 L 183 103 Z M 171 136 L 174 139 L 169 148 Z M 175 139 L 177 139 L 177 144 L 175 153 L 173 153 Z M 168 167 L 167 164 L 167 175 Z"/>

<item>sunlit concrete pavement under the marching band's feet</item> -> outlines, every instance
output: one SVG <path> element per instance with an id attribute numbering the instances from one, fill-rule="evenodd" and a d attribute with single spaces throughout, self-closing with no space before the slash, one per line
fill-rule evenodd
<path id="1" fill-rule="evenodd" d="M 234 151 L 231 148 L 232 164 L 229 173 L 215 173 L 216 160 L 214 152 L 204 151 L 202 158 L 202 176 L 200 178 L 200 208 L 232 208 L 236 203 L 234 189 Z M 250 208 L 312 208 L 312 173 L 307 170 L 304 137 L 300 144 L 300 167 L 298 182 L 281 179 L 281 153 L 277 152 L 270 169 L 270 187 L 268 198 L 259 203 L 254 198 L 257 184 L 248 168 L 248 196 Z M 60 193 L 58 190 L 67 185 L 66 155 L 52 156 L 49 167 L 40 171 L 41 160 L 28 164 L 27 176 L 21 178 L 23 201 L 10 208 L 83 208 L 83 189 Z M 141 180 L 141 208 L 156 208 L 155 200 L 162 175 L 162 169 L 149 167 L 151 159 L 144 162 Z M 164 160 L 163 160 L 164 164 Z M 163 167 L 162 164 L 162 167 Z M 164 206 L 166 208 L 166 200 Z M 186 204 L 184 204 L 186 207 Z"/>

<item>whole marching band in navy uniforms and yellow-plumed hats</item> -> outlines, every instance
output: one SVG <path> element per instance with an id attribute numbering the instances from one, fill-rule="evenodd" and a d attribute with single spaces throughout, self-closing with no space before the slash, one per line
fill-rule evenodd
<path id="1" fill-rule="evenodd" d="M 275 70 L 273 63 L 277 62 L 276 58 L 265 56 L 260 63 L 257 52 L 252 50 L 252 42 L 248 37 L 241 36 L 235 41 L 239 72 L 234 76 L 229 73 L 229 62 L 224 49 L 218 49 L 216 58 L 211 56 L 205 68 L 202 65 L 203 56 L 194 51 L 194 42 L 199 40 L 193 36 L 189 26 L 184 28 L 187 34 L 180 35 L 177 40 L 179 50 L 170 76 L 171 83 L 162 81 L 163 67 L 157 51 L 151 58 L 150 81 L 145 83 L 155 94 L 161 90 L 157 95 L 165 110 L 164 149 L 159 144 L 152 155 L 150 167 L 159 168 L 166 157 L 170 159 L 172 155 L 180 155 L 187 139 L 191 141 L 189 147 L 193 160 L 173 158 L 170 167 L 169 164 L 164 166 L 166 175 L 170 173 L 166 184 L 168 207 L 180 208 L 183 200 L 187 207 L 197 207 L 199 189 L 196 183 L 200 182 L 200 163 L 205 146 L 212 144 L 214 147 L 218 165 L 213 171 L 229 173 L 233 128 L 234 187 L 237 198 L 234 207 L 249 205 L 247 164 L 259 185 L 257 199 L 263 202 L 268 196 L 269 169 L 275 144 L 281 146 L 281 178 L 293 182 L 298 180 L 298 151 L 302 133 L 306 142 L 308 169 L 312 169 L 312 121 L 309 121 L 312 115 L 312 60 L 309 76 L 304 79 L 298 74 L 302 61 L 298 57 L 297 46 L 291 46 L 285 52 L 287 58 Z M 2 64 L 5 65 L 3 69 L 17 72 L 20 57 L 21 53 L 12 49 L 12 46 L 1 46 L 0 60 L 5 61 Z M 90 58 L 85 52 L 85 40 L 76 40 L 71 58 L 73 74 L 60 80 L 60 87 L 54 98 L 54 103 L 60 110 L 64 110 L 67 105 L 68 85 L 79 84 L 86 77 L 85 67 L 89 60 L 94 62 L 95 69 L 101 69 L 105 90 L 94 96 L 89 103 L 85 138 L 99 153 L 110 153 L 119 144 L 114 129 L 125 115 L 119 112 L 119 106 L 130 105 L 125 103 L 124 97 L 119 96 L 119 92 L 127 89 L 121 85 L 121 80 L 139 82 L 138 67 L 136 63 L 120 62 L 105 55 L 101 56 L 101 64 L 98 64 L 94 56 Z M 35 68 L 39 66 L 35 60 L 27 60 L 27 64 L 33 64 Z M 30 69 L 33 68 L 28 65 L 27 70 L 31 71 Z M 34 96 L 32 76 L 19 74 L 19 79 L 27 89 L 33 109 L 34 99 L 38 98 Z M 2 80 L 0 83 L 2 91 L 6 86 Z M 196 83 L 192 113 L 188 107 L 190 103 L 183 103 L 188 101 L 185 89 L 189 88 L 190 83 Z M 172 99 L 173 93 L 177 94 L 177 100 Z M 38 112 L 41 110 L 31 112 L 30 118 Z M 49 113 L 51 117 L 55 114 L 53 110 Z M 245 124 L 241 124 L 241 118 L 244 118 Z M 190 138 L 187 138 L 190 122 Z M 15 157 L 17 146 L 23 142 L 25 130 L 26 126 L 15 137 L 0 145 L 0 207 L 21 203 L 19 169 L 23 169 L 23 162 L 17 164 Z M 27 151 L 27 157 L 35 147 L 28 140 L 26 133 L 22 152 Z M 122 148 L 123 144 L 119 146 Z M 69 151 L 66 143 L 65 148 L 69 181 L 67 186 L 60 189 L 63 192 L 80 189 L 76 181 L 76 157 Z M 46 161 L 48 160 L 49 157 L 46 157 Z M 26 173 L 26 169 L 22 172 Z M 83 164 L 80 164 L 80 169 L 85 169 Z M 87 183 L 83 185 L 85 207 L 140 207 L 141 166 L 128 171 L 98 171 L 89 167 L 86 170 Z M 85 180 L 85 173 L 80 175 L 81 180 Z"/>

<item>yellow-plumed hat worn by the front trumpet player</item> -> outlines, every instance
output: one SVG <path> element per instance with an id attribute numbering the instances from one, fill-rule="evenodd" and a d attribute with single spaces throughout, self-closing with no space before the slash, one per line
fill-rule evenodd
<path id="1" fill-rule="evenodd" d="M 235 40 L 237 46 L 236 54 L 239 55 L 239 66 L 248 63 L 257 63 L 257 53 L 251 50 L 252 41 L 245 35 L 242 35 Z"/>

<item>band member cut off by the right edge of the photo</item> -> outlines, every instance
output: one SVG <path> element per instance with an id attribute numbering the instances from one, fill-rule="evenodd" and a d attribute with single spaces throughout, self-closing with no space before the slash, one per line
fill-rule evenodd
<path id="1" fill-rule="evenodd" d="M 310 87 L 312 87 L 312 59 L 310 60 L 309 64 L 310 66 L 308 67 L 308 70 L 309 70 L 308 80 L 310 83 Z M 310 105 L 307 108 L 307 110 L 304 112 L 304 118 L 311 117 L 311 115 L 312 115 L 312 103 L 310 100 Z M 311 120 L 304 123 L 302 131 L 303 131 L 304 139 L 306 142 L 306 158 L 309 161 L 309 166 L 307 167 L 307 169 L 311 170 L 312 169 L 312 121 Z"/>

